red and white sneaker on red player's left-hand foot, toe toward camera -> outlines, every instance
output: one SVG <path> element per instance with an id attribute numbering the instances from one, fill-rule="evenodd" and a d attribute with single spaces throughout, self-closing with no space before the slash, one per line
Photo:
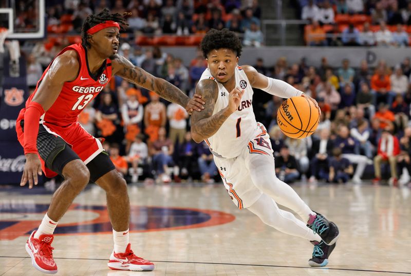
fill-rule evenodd
<path id="1" fill-rule="evenodd" d="M 53 235 L 40 235 L 39 239 L 34 238 L 33 231 L 26 243 L 26 251 L 31 257 L 31 264 L 38 270 L 48 274 L 57 273 L 57 265 L 53 259 Z"/>

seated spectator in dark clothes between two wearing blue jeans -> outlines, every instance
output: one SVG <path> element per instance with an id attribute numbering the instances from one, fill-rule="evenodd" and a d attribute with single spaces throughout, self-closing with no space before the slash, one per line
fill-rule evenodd
<path id="1" fill-rule="evenodd" d="M 180 176 L 183 179 L 192 177 L 194 172 L 194 164 L 197 161 L 197 144 L 191 137 L 191 132 L 187 131 L 184 134 L 184 142 L 179 146 L 178 162 L 180 167 Z"/>

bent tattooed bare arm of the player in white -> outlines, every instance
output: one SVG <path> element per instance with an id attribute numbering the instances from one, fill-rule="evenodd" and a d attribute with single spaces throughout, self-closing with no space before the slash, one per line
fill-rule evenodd
<path id="1" fill-rule="evenodd" d="M 218 97 L 218 86 L 215 81 L 202 80 L 197 84 L 196 93 L 206 102 L 206 108 L 191 116 L 191 135 L 196 143 L 214 135 L 227 118 L 237 110 L 244 90 L 234 88 L 230 92 L 229 105 L 213 115 L 214 106 Z"/>

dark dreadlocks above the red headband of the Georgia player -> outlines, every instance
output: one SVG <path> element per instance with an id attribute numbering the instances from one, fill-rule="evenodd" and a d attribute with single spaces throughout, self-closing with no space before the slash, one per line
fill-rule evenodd
<path id="1" fill-rule="evenodd" d="M 128 26 L 127 24 L 127 19 L 125 18 L 125 16 L 130 15 L 131 13 L 129 12 L 123 12 L 123 13 L 110 13 L 110 11 L 108 9 L 103 9 L 101 12 L 99 12 L 98 14 L 89 14 L 87 16 L 87 18 L 85 19 L 84 23 L 83 23 L 83 28 L 81 30 L 81 40 L 82 40 L 82 44 L 83 46 L 90 48 L 91 45 L 88 42 L 87 38 L 88 38 L 88 34 L 87 31 L 106 21 L 114 21 L 117 22 L 120 25 L 120 31 L 123 32 L 125 31 L 126 27 Z"/>

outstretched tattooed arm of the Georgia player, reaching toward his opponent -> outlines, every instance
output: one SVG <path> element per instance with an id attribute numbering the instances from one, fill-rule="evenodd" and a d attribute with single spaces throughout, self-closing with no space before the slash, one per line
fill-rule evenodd
<path id="1" fill-rule="evenodd" d="M 134 66 L 125 57 L 116 55 L 113 60 L 113 74 L 125 78 L 125 80 L 137 84 L 145 89 L 156 92 L 165 100 L 176 103 L 185 108 L 190 114 L 193 110 L 201 111 L 204 107 L 204 102 L 198 95 L 195 95 L 192 100 L 184 94 L 180 89 L 163 78 L 155 77 L 147 73 L 143 69 Z"/>

